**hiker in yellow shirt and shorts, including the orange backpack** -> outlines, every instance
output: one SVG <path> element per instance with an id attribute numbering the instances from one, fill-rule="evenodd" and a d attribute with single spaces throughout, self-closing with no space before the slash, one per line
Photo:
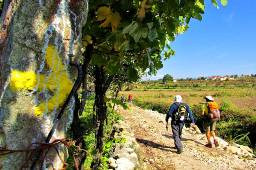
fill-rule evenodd
<path id="1" fill-rule="evenodd" d="M 220 119 L 220 111 L 219 105 L 214 101 L 214 98 L 211 96 L 206 96 L 204 98 L 205 102 L 201 102 L 202 105 L 202 116 L 204 116 L 204 121 L 202 124 L 203 130 L 206 131 L 206 138 L 208 143 L 205 144 L 206 147 L 211 148 L 211 135 L 214 140 L 215 146 L 219 146 L 219 143 L 216 138 L 215 130 L 216 130 L 216 122 Z"/>

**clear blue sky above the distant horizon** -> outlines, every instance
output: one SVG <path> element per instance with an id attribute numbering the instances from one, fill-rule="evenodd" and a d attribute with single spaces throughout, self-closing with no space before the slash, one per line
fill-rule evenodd
<path id="1" fill-rule="evenodd" d="M 205 0 L 202 21 L 191 19 L 189 29 L 169 45 L 175 56 L 163 61 L 155 80 L 256 74 L 256 0 L 228 0 L 219 9 Z"/>

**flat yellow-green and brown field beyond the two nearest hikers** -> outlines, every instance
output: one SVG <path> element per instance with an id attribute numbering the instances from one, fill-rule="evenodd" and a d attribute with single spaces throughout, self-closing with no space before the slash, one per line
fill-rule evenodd
<path id="1" fill-rule="evenodd" d="M 181 89 L 180 89 L 181 90 Z M 175 95 L 181 95 L 183 102 L 188 105 L 198 105 L 200 101 L 205 101 L 203 97 L 211 95 L 216 102 L 221 103 L 223 100 L 229 100 L 239 109 L 256 109 L 256 89 L 221 89 L 216 91 L 122 91 L 126 100 L 129 94 L 133 94 L 134 101 L 144 100 L 152 103 L 166 103 L 171 105 Z"/>

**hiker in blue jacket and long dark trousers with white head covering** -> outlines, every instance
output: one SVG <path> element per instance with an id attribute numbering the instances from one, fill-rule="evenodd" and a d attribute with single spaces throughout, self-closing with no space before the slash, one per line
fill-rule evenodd
<path id="1" fill-rule="evenodd" d="M 180 154 L 183 152 L 182 146 L 182 128 L 185 124 L 185 121 L 189 120 L 189 117 L 192 121 L 190 124 L 191 127 L 195 126 L 194 117 L 190 108 L 187 104 L 182 103 L 182 97 L 176 95 L 174 98 L 174 103 L 171 105 L 168 114 L 166 115 L 165 121 L 168 124 L 168 119 L 172 118 L 171 127 L 174 137 L 174 144 L 177 149 L 176 153 Z M 168 127 L 167 127 L 168 129 Z"/>

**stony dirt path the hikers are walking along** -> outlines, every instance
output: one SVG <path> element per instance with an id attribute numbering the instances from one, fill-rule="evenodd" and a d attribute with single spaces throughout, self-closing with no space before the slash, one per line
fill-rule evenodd
<path id="1" fill-rule="evenodd" d="M 119 107 L 124 121 L 130 124 L 140 144 L 139 155 L 147 164 L 147 170 L 250 170 L 256 169 L 252 161 L 243 161 L 238 155 L 221 147 L 204 146 L 204 135 L 182 132 L 184 152 L 176 154 L 171 126 L 166 131 L 165 116 L 132 106 L 132 111 Z M 202 138 L 203 137 L 203 138 Z M 241 158 L 241 157 L 240 157 Z"/>

